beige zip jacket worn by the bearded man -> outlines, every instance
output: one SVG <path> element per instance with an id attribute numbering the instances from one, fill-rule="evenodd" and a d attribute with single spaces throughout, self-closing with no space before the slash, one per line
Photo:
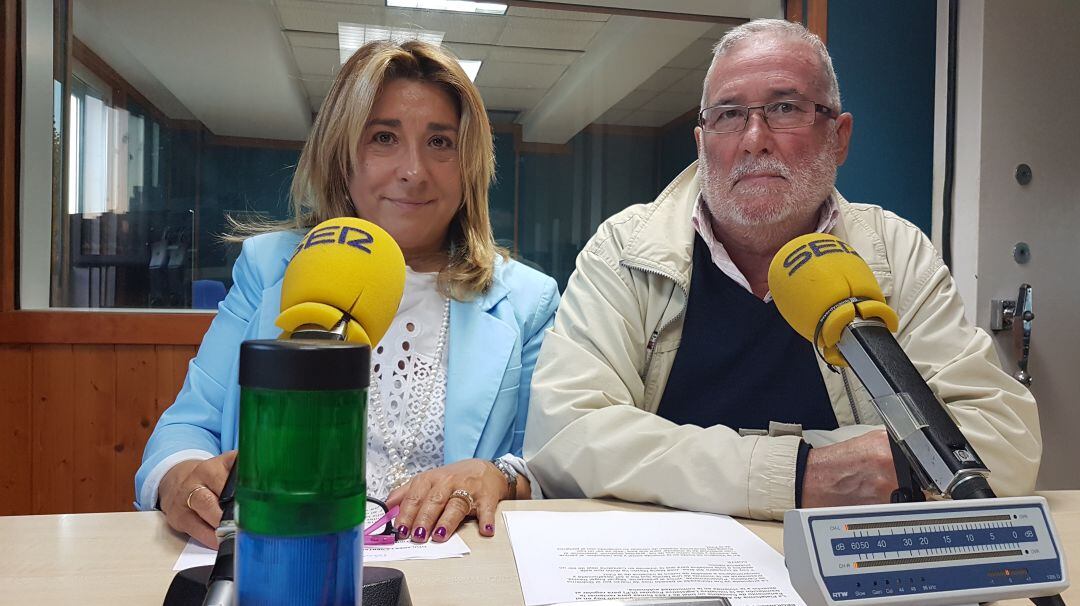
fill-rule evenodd
<path id="1" fill-rule="evenodd" d="M 549 498 L 615 497 L 757 519 L 795 507 L 799 436 L 743 436 L 656 415 L 683 333 L 696 175 L 693 164 L 654 202 L 604 221 L 578 256 L 540 351 L 525 435 L 529 470 Z M 1035 399 L 964 319 L 933 245 L 879 206 L 833 196 L 841 217 L 832 233 L 869 264 L 900 314 L 897 341 L 991 470 L 990 485 L 999 496 L 1030 493 L 1042 452 Z M 734 321 L 723 306 L 716 311 Z M 852 398 L 841 375 L 821 371 L 841 426 L 825 433 L 835 441 L 853 434 L 846 426 L 881 423 L 850 371 Z"/>

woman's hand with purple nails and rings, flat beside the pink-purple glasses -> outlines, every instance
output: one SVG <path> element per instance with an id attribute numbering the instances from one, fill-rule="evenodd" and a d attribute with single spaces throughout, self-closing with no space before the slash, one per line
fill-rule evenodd
<path id="1" fill-rule="evenodd" d="M 469 493 L 475 511 L 470 511 L 468 499 L 451 498 L 455 490 Z M 491 461 L 465 459 L 415 475 L 390 493 L 387 507 L 401 506 L 394 521 L 400 539 L 443 542 L 472 513 L 480 523 L 480 534 L 490 537 L 495 535 L 495 508 L 502 499 L 515 497 L 509 491 L 507 476 Z"/>

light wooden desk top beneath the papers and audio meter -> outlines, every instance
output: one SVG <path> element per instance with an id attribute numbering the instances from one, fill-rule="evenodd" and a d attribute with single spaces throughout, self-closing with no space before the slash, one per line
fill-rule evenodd
<path id="1" fill-rule="evenodd" d="M 1068 556 L 1074 587 L 1066 602 L 1080 606 L 1080 490 L 1042 494 Z M 657 511 L 652 506 L 596 501 L 510 501 L 502 510 Z M 744 521 L 777 550 L 782 526 Z M 476 523 L 461 536 L 472 554 L 454 560 L 393 564 L 405 571 L 416 606 L 522 604 L 510 541 L 501 517 L 496 536 L 482 538 Z M 0 517 L 0 604 L 69 605 L 161 604 L 185 538 L 160 513 L 95 513 Z M 1025 605 L 1010 601 L 1002 605 Z"/>

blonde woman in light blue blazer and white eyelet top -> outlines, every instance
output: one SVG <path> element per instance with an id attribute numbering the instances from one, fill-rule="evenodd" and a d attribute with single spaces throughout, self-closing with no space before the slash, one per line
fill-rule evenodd
<path id="1" fill-rule="evenodd" d="M 490 124 L 446 51 L 370 43 L 341 67 L 293 179 L 294 220 L 247 238 L 233 287 L 162 415 L 135 476 L 139 509 L 216 546 L 217 496 L 235 458 L 240 344 L 273 338 L 281 281 L 310 227 L 370 220 L 405 255 L 405 294 L 373 351 L 367 486 L 401 504 L 399 538 L 443 541 L 502 499 L 529 498 L 519 458 L 554 280 L 498 248 L 488 219 Z"/>

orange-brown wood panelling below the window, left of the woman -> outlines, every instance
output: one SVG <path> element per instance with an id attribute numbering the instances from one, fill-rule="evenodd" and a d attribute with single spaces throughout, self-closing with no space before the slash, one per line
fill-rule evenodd
<path id="1" fill-rule="evenodd" d="M 0 345 L 0 515 L 130 511 L 193 346 Z"/>

